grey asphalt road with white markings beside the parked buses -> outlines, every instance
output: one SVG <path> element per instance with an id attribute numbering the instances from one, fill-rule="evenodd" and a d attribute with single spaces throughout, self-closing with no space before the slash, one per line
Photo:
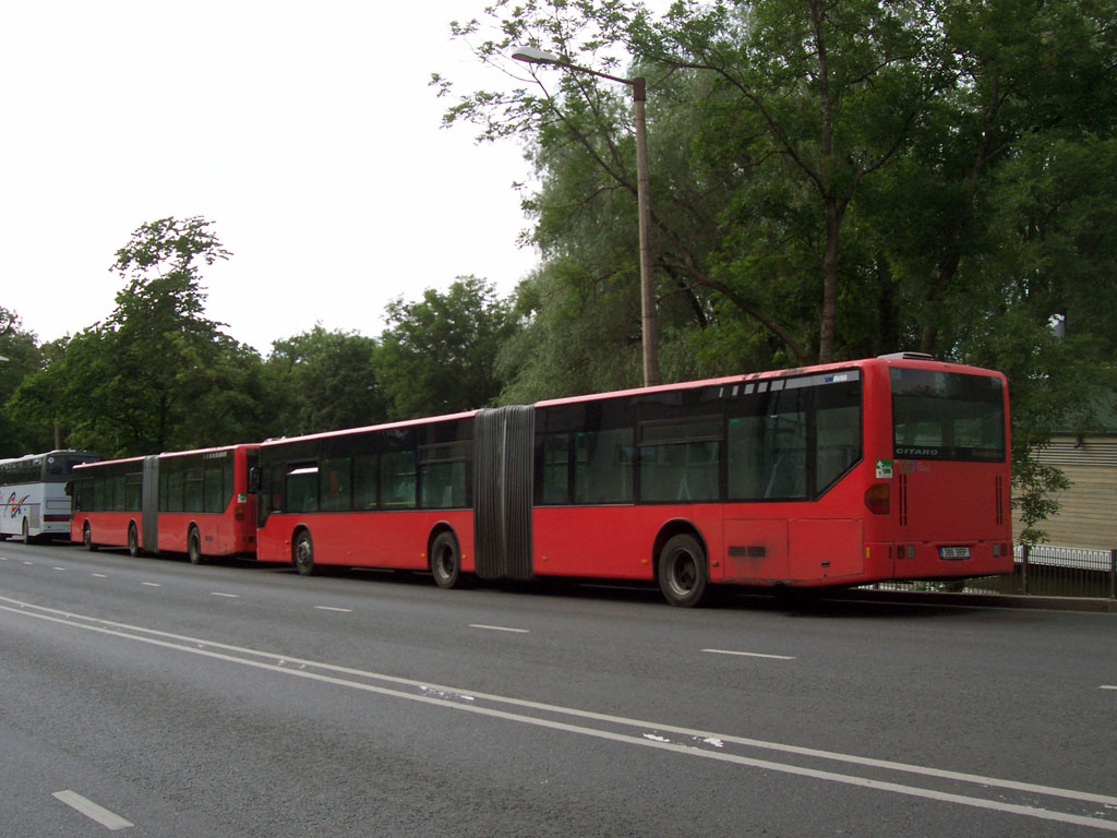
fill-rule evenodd
<path id="1" fill-rule="evenodd" d="M 1117 616 L 0 544 L 0 836 L 1117 831 Z"/>

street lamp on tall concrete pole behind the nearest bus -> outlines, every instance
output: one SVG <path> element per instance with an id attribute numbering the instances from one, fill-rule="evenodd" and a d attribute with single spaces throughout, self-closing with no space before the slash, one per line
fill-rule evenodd
<path id="1" fill-rule="evenodd" d="M 651 387 L 659 383 L 659 358 L 656 337 L 656 297 L 651 284 L 651 204 L 648 201 L 648 126 L 643 114 L 647 85 L 643 76 L 621 78 L 599 73 L 589 67 L 580 67 L 563 58 L 535 47 L 519 47 L 512 54 L 525 64 L 548 64 L 574 73 L 585 73 L 610 82 L 619 82 L 632 88 L 632 104 L 636 111 L 636 204 L 640 225 L 640 316 L 643 340 L 643 383 Z"/>

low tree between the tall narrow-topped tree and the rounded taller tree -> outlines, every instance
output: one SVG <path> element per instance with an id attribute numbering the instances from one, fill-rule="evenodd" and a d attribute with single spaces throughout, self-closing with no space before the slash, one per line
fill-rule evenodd
<path id="1" fill-rule="evenodd" d="M 317 324 L 271 345 L 266 375 L 276 394 L 270 436 L 296 436 L 383 421 L 385 401 L 372 337 Z"/>

